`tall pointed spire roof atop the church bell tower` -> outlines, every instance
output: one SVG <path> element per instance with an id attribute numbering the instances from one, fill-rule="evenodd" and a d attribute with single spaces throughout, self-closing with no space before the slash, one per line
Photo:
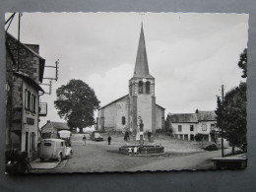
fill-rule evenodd
<path id="1" fill-rule="evenodd" d="M 141 28 L 141 34 L 139 39 L 139 46 L 137 51 L 136 63 L 133 77 L 135 78 L 154 78 L 150 75 L 147 51 L 146 51 L 146 43 L 143 32 L 143 25 Z"/>

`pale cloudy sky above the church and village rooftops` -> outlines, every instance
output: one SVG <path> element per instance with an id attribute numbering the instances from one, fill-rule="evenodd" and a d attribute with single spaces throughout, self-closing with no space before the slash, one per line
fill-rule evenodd
<path id="1" fill-rule="evenodd" d="M 21 41 L 39 44 L 47 66 L 59 59 L 52 94 L 40 97 L 48 103 L 40 127 L 47 120 L 64 121 L 53 101 L 56 90 L 71 79 L 93 88 L 101 106 L 128 94 L 142 22 L 156 101 L 165 116 L 215 110 L 221 86 L 227 92 L 244 81 L 237 63 L 247 47 L 248 19 L 247 14 L 23 13 Z M 8 31 L 16 37 L 17 20 Z M 44 69 L 45 78 L 54 73 Z M 42 88 L 48 92 L 47 86 Z"/>

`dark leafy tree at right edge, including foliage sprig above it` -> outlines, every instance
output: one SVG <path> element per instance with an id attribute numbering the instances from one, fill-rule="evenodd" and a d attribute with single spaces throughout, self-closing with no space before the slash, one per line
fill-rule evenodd
<path id="1" fill-rule="evenodd" d="M 238 66 L 243 70 L 242 78 L 247 77 L 247 49 L 240 54 Z M 217 97 L 217 126 L 224 130 L 223 137 L 232 147 L 246 151 L 246 82 L 228 91 L 224 98 Z"/>

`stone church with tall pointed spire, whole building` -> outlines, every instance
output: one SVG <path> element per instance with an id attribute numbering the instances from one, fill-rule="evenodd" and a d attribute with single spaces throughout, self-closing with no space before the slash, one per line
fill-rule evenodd
<path id="1" fill-rule="evenodd" d="M 141 27 L 133 77 L 129 94 L 101 106 L 97 111 L 98 130 L 137 132 L 140 119 L 144 132 L 156 133 L 164 126 L 164 108 L 156 103 L 155 78 L 149 72 L 146 43 Z"/>

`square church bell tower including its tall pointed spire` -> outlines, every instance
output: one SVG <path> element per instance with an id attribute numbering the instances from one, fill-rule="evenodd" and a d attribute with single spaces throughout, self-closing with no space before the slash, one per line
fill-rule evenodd
<path id="1" fill-rule="evenodd" d="M 139 118 L 143 120 L 144 132 L 156 132 L 155 78 L 150 75 L 146 43 L 141 27 L 139 46 L 133 77 L 129 80 L 129 125 L 136 133 Z"/>

